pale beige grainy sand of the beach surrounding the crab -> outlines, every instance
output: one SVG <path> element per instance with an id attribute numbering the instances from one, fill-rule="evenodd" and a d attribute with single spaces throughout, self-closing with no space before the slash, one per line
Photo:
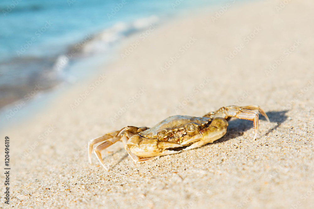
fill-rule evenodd
<path id="1" fill-rule="evenodd" d="M 313 208 L 314 2 L 280 4 L 231 2 L 217 20 L 220 6 L 136 34 L 101 76 L 10 120 L 1 138 L 10 137 L 11 199 L 1 195 L 1 207 Z M 88 163 L 88 141 L 104 133 L 233 104 L 267 113 L 256 140 L 252 122 L 236 119 L 197 149 L 136 164 L 116 143 L 102 152 L 109 172 L 94 155 Z"/>

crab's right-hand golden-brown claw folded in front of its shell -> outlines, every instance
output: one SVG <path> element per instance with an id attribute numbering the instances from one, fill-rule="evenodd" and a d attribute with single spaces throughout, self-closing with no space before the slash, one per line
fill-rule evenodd
<path id="1" fill-rule="evenodd" d="M 200 133 L 196 135 L 198 137 L 193 137 L 197 141 L 183 150 L 193 149 L 203 146 L 204 144 L 213 143 L 215 140 L 226 134 L 227 126 L 228 122 L 224 118 L 215 118 L 207 128 L 200 130 Z M 191 143 L 191 141 L 188 142 Z M 189 143 L 184 142 L 184 144 Z M 181 144 L 184 145 L 183 143 Z"/>

